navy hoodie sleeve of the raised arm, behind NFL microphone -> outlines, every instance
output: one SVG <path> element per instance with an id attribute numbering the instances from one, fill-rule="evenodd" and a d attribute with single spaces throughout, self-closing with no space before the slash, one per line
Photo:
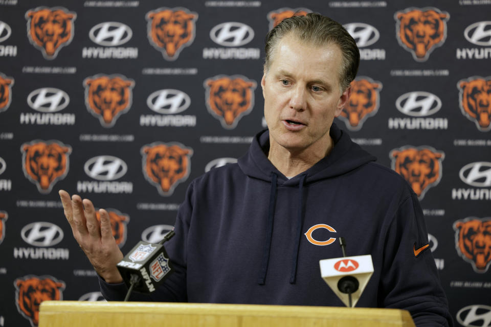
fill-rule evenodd
<path id="1" fill-rule="evenodd" d="M 167 243 L 165 250 L 172 264 L 172 273 L 157 290 L 150 294 L 133 292 L 130 301 L 187 302 L 186 291 L 186 249 L 189 221 L 192 215 L 193 185 L 190 184 L 185 201 L 179 207 L 174 226 L 175 235 Z M 122 301 L 128 291 L 124 283 L 108 284 L 99 277 L 102 296 L 108 301 Z"/>

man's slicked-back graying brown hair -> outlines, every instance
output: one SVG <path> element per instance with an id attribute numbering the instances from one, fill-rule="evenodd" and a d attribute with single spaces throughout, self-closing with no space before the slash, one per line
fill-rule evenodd
<path id="1" fill-rule="evenodd" d="M 286 18 L 267 33 L 265 73 L 270 69 L 276 45 L 289 33 L 292 33 L 299 40 L 315 46 L 337 44 L 343 54 L 343 63 L 339 72 L 341 89 L 345 90 L 354 80 L 360 65 L 360 51 L 356 42 L 339 22 L 318 13 Z"/>

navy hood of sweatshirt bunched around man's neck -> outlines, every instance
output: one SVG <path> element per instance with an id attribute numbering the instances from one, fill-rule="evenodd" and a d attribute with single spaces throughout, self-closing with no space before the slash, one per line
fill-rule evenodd
<path id="1" fill-rule="evenodd" d="M 300 182 L 300 176 L 305 177 L 305 184 L 321 179 L 339 176 L 354 170 L 376 158 L 351 141 L 349 135 L 332 124 L 329 134 L 334 147 L 328 156 L 321 159 L 305 172 L 288 179 L 280 173 L 267 158 L 270 148 L 270 132 L 263 130 L 258 133 L 249 148 L 249 152 L 238 159 L 242 172 L 249 177 L 271 181 L 272 173 L 278 176 L 278 185 L 295 186 Z"/>

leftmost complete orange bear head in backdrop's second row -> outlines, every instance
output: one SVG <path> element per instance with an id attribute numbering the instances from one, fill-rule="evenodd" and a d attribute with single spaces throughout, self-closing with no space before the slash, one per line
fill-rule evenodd
<path id="1" fill-rule="evenodd" d="M 95 75 L 83 81 L 85 106 L 104 127 L 112 127 L 131 107 L 135 81 L 122 75 Z"/>

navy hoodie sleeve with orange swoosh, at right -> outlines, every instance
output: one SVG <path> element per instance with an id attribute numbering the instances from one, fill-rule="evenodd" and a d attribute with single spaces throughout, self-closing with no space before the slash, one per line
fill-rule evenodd
<path id="1" fill-rule="evenodd" d="M 400 203 L 384 249 L 379 293 L 382 306 L 408 310 L 418 327 L 453 326 L 414 192 Z"/>

